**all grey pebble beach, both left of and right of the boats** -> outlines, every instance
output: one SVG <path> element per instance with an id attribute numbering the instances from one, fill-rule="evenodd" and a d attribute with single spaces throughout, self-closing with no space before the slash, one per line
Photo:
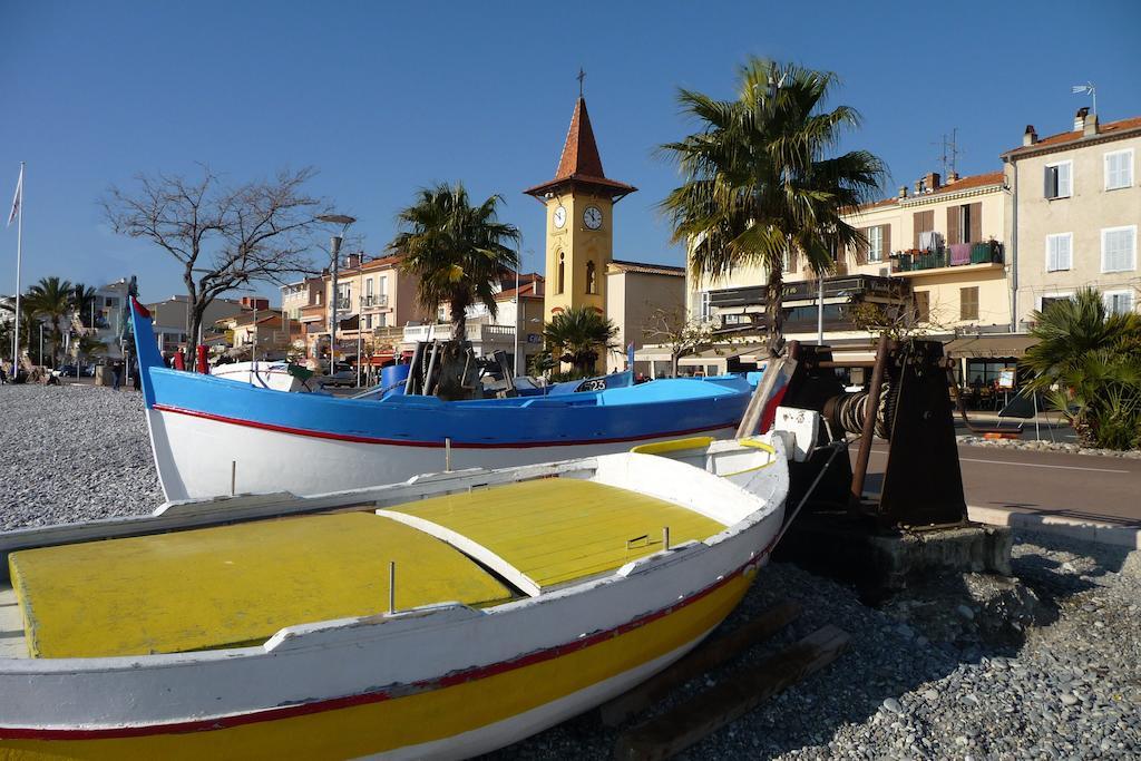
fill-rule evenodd
<path id="1" fill-rule="evenodd" d="M 0 387 L 0 444 L 5 529 L 149 512 L 162 501 L 133 391 Z M 1002 632 L 987 624 L 994 600 L 1011 598 L 995 597 L 992 578 L 944 580 L 926 597 L 876 609 L 847 586 L 774 564 L 725 626 L 783 599 L 800 602 L 801 617 L 655 711 L 831 623 L 851 635 L 835 663 L 680 758 L 1138 758 L 1139 554 L 1015 532 L 1019 600 L 1037 623 L 1012 616 L 1018 626 Z M 621 729 L 588 713 L 491 758 L 610 758 Z"/>

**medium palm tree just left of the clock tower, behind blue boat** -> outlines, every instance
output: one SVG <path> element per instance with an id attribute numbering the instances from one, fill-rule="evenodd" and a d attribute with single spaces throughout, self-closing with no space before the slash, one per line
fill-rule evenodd
<path id="1" fill-rule="evenodd" d="M 499 221 L 503 196 L 472 207 L 461 183 L 420 191 L 416 202 L 397 214 L 400 232 L 388 244 L 400 253 L 400 269 L 418 277 L 416 300 L 429 314 L 442 305 L 452 313 L 452 340 L 466 340 L 467 309 L 483 303 L 494 317 L 495 293 L 504 270 L 519 266 L 508 243 L 519 230 Z"/>

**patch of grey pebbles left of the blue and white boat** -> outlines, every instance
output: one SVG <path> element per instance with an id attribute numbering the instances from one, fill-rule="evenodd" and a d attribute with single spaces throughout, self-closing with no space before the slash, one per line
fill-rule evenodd
<path id="1" fill-rule="evenodd" d="M 162 503 L 143 396 L 0 386 L 0 529 L 140 515 Z"/>

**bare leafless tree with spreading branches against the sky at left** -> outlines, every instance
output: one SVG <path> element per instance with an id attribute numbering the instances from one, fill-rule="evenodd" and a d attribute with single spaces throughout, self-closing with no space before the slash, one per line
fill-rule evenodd
<path id="1" fill-rule="evenodd" d="M 102 205 L 116 233 L 147 238 L 183 265 L 194 341 L 207 307 L 222 293 L 313 272 L 311 234 L 326 211 L 305 192 L 315 173 L 283 170 L 237 186 L 225 185 L 205 165 L 193 179 L 138 175 L 133 192 L 112 186 Z"/>

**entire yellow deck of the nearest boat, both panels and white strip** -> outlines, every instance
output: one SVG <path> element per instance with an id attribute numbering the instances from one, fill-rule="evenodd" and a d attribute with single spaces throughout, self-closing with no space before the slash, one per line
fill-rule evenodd
<path id="1" fill-rule="evenodd" d="M 410 521 L 411 520 L 411 525 Z M 398 504 L 14 552 L 31 657 L 258 645 L 284 626 L 388 608 L 505 602 L 613 572 L 725 526 L 665 500 L 540 478 Z"/>

